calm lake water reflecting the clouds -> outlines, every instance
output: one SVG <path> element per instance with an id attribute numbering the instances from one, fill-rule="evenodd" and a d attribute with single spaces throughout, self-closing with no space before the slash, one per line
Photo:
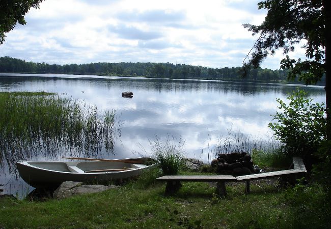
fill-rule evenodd
<path id="1" fill-rule="evenodd" d="M 268 139 L 268 123 L 277 108 L 276 98 L 286 100 L 297 87 L 309 92 L 316 102 L 325 100 L 323 87 L 294 84 L 241 83 L 212 80 L 173 80 L 86 75 L 0 74 L 0 91 L 57 92 L 99 110 L 117 112 L 122 124 L 121 139 L 115 142 L 115 155 L 105 158 L 150 154 L 150 142 L 157 135 L 185 140 L 185 153 L 205 162 L 208 149 L 229 132 L 240 132 L 251 139 Z M 133 92 L 133 98 L 121 93 Z M 0 117 L 1 118 L 1 117 Z M 0 136 L 1 137 L 1 136 Z M 52 158 L 53 160 L 61 160 Z M 84 155 L 82 155 L 84 156 Z M 45 160 L 26 158 L 26 160 Z M 47 158 L 48 159 L 48 158 Z M 32 187 L 9 173 L 5 163 L 0 169 L 0 184 L 6 193 L 21 195 Z M 1 188 L 1 187 L 0 187 Z"/>

